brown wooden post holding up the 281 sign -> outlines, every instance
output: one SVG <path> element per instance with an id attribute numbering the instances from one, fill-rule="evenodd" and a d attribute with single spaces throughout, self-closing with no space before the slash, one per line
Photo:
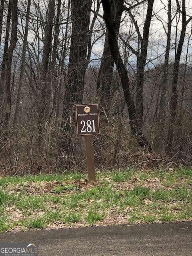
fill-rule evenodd
<path id="1" fill-rule="evenodd" d="M 94 152 L 93 152 L 93 135 L 85 136 L 86 155 L 87 155 L 87 172 L 89 183 L 96 182 L 95 166 L 94 166 Z"/>

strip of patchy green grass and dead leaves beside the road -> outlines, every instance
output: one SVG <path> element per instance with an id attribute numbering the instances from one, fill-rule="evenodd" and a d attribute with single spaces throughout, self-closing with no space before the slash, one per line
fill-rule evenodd
<path id="1" fill-rule="evenodd" d="M 192 220 L 192 170 L 0 178 L 0 232 Z"/>

